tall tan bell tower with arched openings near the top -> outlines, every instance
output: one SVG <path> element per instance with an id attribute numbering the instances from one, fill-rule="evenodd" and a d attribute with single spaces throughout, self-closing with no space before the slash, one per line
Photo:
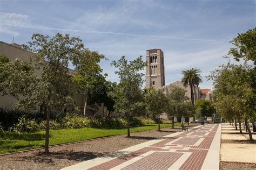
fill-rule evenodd
<path id="1" fill-rule="evenodd" d="M 146 88 L 160 89 L 165 86 L 163 51 L 161 49 L 148 49 L 146 61 Z"/>

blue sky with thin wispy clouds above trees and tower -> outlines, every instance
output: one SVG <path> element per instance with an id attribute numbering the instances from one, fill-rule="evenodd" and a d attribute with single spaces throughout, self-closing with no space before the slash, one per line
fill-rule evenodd
<path id="1" fill-rule="evenodd" d="M 256 25 L 256 1 L 12 1 L 0 0 L 0 41 L 25 44 L 33 33 L 80 37 L 86 48 L 104 54 L 100 66 L 117 81 L 111 61 L 131 61 L 146 50 L 164 52 L 166 84 L 181 70 L 198 68 L 203 83 L 232 47 L 230 40 Z M 231 60 L 234 62 L 234 60 Z M 71 66 L 72 68 L 72 66 Z M 143 71 L 145 72 L 145 71 Z"/>

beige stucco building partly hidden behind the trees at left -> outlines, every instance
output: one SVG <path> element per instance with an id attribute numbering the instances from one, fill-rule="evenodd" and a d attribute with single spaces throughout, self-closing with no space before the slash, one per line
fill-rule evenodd
<path id="1" fill-rule="evenodd" d="M 22 61 L 30 61 L 30 57 L 34 53 L 30 51 L 26 51 L 21 48 L 21 45 L 18 45 L 16 43 L 13 44 L 8 44 L 6 42 L 0 41 L 0 55 L 5 55 L 8 56 L 10 60 L 15 60 L 15 59 L 20 59 Z M 40 75 L 41 71 L 40 70 L 35 70 L 36 75 Z M 72 69 L 69 69 L 69 73 L 67 76 L 73 76 Z M 83 111 L 84 109 L 84 102 L 85 102 L 85 95 L 83 94 L 78 94 L 73 92 L 73 100 L 75 103 L 78 105 L 79 110 Z M 5 95 L 2 96 L 0 93 L 0 108 L 7 108 L 7 109 L 12 109 L 15 105 L 15 98 L 12 97 L 11 95 Z M 104 103 L 99 103 L 99 104 L 93 104 L 89 105 L 86 107 L 87 113 L 91 115 L 106 115 L 106 107 L 104 106 Z"/>

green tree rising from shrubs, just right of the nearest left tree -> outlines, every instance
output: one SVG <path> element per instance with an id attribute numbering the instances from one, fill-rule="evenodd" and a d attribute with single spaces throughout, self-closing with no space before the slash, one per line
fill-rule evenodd
<path id="1" fill-rule="evenodd" d="M 84 116 L 86 116 L 86 106 L 90 93 L 96 93 L 96 86 L 105 80 L 104 75 L 102 75 L 102 68 L 99 66 L 100 60 L 104 58 L 103 54 L 84 49 L 73 60 L 73 65 L 76 67 L 75 76 L 71 79 L 78 93 L 85 94 Z"/>

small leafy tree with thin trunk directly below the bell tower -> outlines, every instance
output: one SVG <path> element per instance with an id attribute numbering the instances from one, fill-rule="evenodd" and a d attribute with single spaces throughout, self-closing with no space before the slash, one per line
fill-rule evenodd
<path id="1" fill-rule="evenodd" d="M 145 102 L 151 114 L 157 117 L 158 131 L 160 131 L 160 115 L 166 111 L 166 103 L 168 103 L 166 94 L 164 94 L 163 89 L 147 89 Z"/>

